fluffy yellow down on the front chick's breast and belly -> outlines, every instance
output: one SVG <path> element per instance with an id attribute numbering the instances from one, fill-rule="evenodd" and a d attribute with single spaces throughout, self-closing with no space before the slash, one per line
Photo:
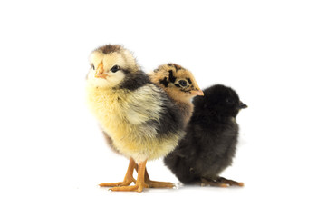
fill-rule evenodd
<path id="1" fill-rule="evenodd" d="M 171 152 L 184 134 L 179 131 L 159 137 L 154 127 L 145 125 L 149 120 L 159 121 L 162 101 L 153 95 L 153 84 L 134 92 L 113 90 L 87 84 L 87 102 L 104 132 L 111 135 L 121 154 L 132 157 L 136 163 L 157 159 Z M 152 92 L 151 92 L 152 90 Z"/>

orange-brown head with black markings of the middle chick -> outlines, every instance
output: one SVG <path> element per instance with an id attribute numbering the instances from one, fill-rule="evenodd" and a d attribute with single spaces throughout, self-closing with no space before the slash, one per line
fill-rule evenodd
<path id="1" fill-rule="evenodd" d="M 193 74 L 178 64 L 160 65 L 151 72 L 150 78 L 178 101 L 189 102 L 194 96 L 203 95 Z"/>

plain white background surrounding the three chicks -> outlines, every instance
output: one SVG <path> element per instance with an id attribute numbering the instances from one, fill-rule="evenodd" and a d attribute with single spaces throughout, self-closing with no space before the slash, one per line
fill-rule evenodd
<path id="1" fill-rule="evenodd" d="M 118 3 L 119 2 L 119 3 Z M 1 217 L 326 217 L 324 1 L 2 1 Z M 222 175 L 244 188 L 111 193 L 128 160 L 84 104 L 88 56 L 121 44 L 147 72 L 174 62 L 248 109 Z M 178 183 L 161 160 L 152 179 Z"/>

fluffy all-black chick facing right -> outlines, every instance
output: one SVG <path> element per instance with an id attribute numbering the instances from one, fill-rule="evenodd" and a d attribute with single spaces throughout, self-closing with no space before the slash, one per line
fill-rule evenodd
<path id="1" fill-rule="evenodd" d="M 238 138 L 236 115 L 247 106 L 233 89 L 221 84 L 207 88 L 204 94 L 194 99 L 187 134 L 164 163 L 182 183 L 243 186 L 219 174 L 232 164 Z"/>

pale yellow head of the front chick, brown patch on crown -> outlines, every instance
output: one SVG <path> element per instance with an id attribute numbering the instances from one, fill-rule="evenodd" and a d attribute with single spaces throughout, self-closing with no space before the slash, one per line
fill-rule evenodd
<path id="1" fill-rule="evenodd" d="M 113 88 L 124 80 L 126 74 L 139 71 L 133 54 L 120 45 L 97 48 L 90 55 L 90 64 L 88 80 L 104 88 Z"/>

